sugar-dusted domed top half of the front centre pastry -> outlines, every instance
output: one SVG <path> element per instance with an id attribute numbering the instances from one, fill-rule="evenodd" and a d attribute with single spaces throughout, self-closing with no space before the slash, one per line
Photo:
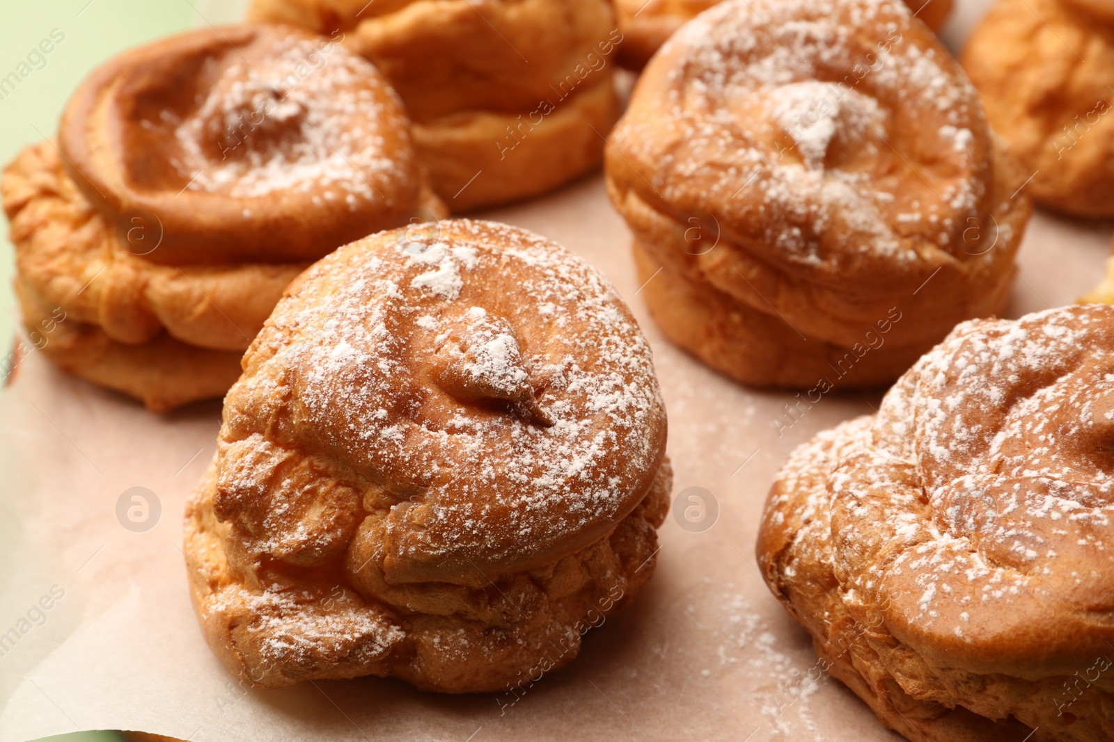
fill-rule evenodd
<path id="1" fill-rule="evenodd" d="M 585 261 L 506 225 L 339 249 L 291 285 L 244 369 L 225 399 L 216 512 L 272 556 L 301 540 L 278 554 L 296 564 L 355 538 L 349 553 L 378 554 L 389 583 L 487 584 L 603 537 L 664 456 L 629 310 Z M 362 493 L 358 531 L 311 536 L 304 518 L 260 512 L 277 507 L 264 491 L 282 488 L 271 473 L 289 457 L 314 462 L 315 487 Z"/>

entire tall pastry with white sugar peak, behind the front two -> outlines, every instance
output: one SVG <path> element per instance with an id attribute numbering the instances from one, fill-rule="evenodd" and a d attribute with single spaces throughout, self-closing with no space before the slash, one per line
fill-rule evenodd
<path id="1" fill-rule="evenodd" d="M 610 142 L 641 293 L 735 379 L 892 382 L 1006 301 L 1025 175 L 896 0 L 719 4 L 662 47 Z"/>

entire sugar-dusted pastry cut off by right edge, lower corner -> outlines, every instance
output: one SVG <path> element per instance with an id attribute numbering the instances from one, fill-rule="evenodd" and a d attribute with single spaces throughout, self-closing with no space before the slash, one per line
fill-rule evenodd
<path id="1" fill-rule="evenodd" d="M 1106 305 L 964 323 L 778 475 L 770 590 L 909 740 L 1114 738 L 1111 348 Z"/>

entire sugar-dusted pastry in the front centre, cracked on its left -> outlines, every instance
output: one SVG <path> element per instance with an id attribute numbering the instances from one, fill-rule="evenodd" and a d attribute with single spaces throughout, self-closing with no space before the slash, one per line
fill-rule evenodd
<path id="1" fill-rule="evenodd" d="M 348 245 L 286 289 L 186 508 L 194 606 L 253 682 L 509 691 L 654 572 L 672 474 L 607 280 L 486 221 Z"/>

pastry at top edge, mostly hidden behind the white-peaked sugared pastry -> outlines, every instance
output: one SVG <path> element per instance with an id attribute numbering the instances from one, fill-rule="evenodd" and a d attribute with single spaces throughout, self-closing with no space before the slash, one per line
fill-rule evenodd
<path id="1" fill-rule="evenodd" d="M 623 43 L 618 62 L 641 70 L 674 31 L 719 0 L 612 0 Z M 1081 0 L 1082 1 L 1082 0 Z M 1100 2 L 1101 0 L 1092 0 Z M 909 9 L 934 31 L 939 31 L 951 13 L 952 0 L 906 0 Z"/>

